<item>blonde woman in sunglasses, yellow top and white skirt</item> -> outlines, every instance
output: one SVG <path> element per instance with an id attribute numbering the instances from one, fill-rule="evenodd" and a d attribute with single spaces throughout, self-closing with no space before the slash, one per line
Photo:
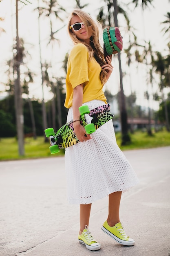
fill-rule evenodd
<path id="1" fill-rule="evenodd" d="M 71 13 L 68 33 L 75 45 L 68 58 L 64 106 L 69 108 L 67 122 L 73 120 L 80 142 L 66 148 L 65 166 L 68 201 L 80 204 L 78 239 L 89 250 L 100 249 L 88 230 L 91 203 L 108 195 L 108 218 L 102 230 L 122 245 L 134 245 L 121 225 L 119 204 L 122 191 L 138 183 L 137 176 L 117 146 L 112 120 L 91 135 L 79 120 L 79 106 L 93 109 L 107 103 L 103 85 L 113 71 L 111 56 L 106 56 L 105 61 L 99 44 L 99 24 L 84 11 L 76 9 Z"/>

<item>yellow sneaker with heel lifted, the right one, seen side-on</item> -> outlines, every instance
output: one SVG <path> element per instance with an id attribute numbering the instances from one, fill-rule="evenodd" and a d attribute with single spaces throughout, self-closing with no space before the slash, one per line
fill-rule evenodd
<path id="1" fill-rule="evenodd" d="M 111 238 L 115 239 L 121 245 L 132 246 L 135 245 L 135 240 L 126 236 L 124 228 L 121 225 L 121 222 L 117 223 L 114 227 L 110 227 L 108 222 L 105 221 L 102 227 L 102 231 L 109 235 Z"/>

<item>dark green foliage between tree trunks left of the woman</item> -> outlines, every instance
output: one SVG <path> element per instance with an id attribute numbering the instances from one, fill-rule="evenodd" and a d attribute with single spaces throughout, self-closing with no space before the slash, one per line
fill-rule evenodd
<path id="1" fill-rule="evenodd" d="M 62 124 L 66 123 L 67 109 L 64 107 L 65 94 L 60 93 L 60 101 L 62 106 Z M 35 118 L 36 135 L 43 136 L 44 130 L 42 125 L 42 103 L 38 100 L 31 101 L 33 106 L 33 113 Z M 57 106 L 57 97 L 56 97 Z M 52 126 L 52 114 L 51 114 L 51 101 L 46 103 L 47 109 L 47 121 L 48 126 Z M 23 99 L 23 114 L 24 114 L 24 134 L 32 133 L 31 113 L 29 108 L 29 101 Z M 58 112 L 56 108 L 56 127 L 58 130 Z M 14 95 L 11 95 L 2 101 L 0 101 L 0 137 L 13 137 L 16 136 L 16 121 L 15 121 L 15 107 L 14 107 Z"/>

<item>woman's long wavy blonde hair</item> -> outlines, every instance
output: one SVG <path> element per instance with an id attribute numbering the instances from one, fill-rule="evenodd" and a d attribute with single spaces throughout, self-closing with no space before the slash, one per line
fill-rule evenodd
<path id="1" fill-rule="evenodd" d="M 82 22 L 84 23 L 87 30 L 88 30 L 88 27 L 91 27 L 92 36 L 90 38 L 90 42 L 91 42 L 90 45 L 88 45 L 83 40 L 77 38 L 75 33 L 72 31 L 72 29 L 70 29 L 71 19 L 75 15 L 77 15 L 82 20 Z M 88 53 L 89 53 L 89 60 L 91 60 L 91 58 L 94 57 L 101 67 L 106 63 L 106 61 L 104 59 L 103 48 L 99 43 L 99 29 L 102 30 L 102 25 L 99 22 L 93 20 L 93 18 L 91 18 L 91 16 L 88 13 L 86 13 L 80 9 L 75 9 L 74 11 L 72 11 L 72 13 L 68 19 L 68 28 L 67 29 L 68 29 L 69 36 L 71 37 L 71 39 L 73 40 L 73 42 L 75 44 L 83 43 L 84 45 L 86 45 L 86 47 L 88 49 Z M 107 72 L 104 70 L 102 70 L 100 73 L 100 79 L 101 79 L 103 85 L 107 81 L 106 74 L 107 74 Z"/>

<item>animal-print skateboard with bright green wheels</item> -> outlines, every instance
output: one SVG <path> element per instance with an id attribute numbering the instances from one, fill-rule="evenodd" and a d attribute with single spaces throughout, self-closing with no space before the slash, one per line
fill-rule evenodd
<path id="1" fill-rule="evenodd" d="M 91 134 L 95 132 L 100 126 L 111 120 L 114 116 L 110 113 L 110 105 L 106 104 L 92 110 L 88 106 L 79 107 L 80 124 L 84 126 L 86 133 Z M 53 128 L 44 130 L 46 137 L 50 138 L 49 147 L 51 154 L 58 153 L 60 149 L 73 146 L 79 142 L 77 139 L 73 121 L 64 124 L 57 132 Z"/>

